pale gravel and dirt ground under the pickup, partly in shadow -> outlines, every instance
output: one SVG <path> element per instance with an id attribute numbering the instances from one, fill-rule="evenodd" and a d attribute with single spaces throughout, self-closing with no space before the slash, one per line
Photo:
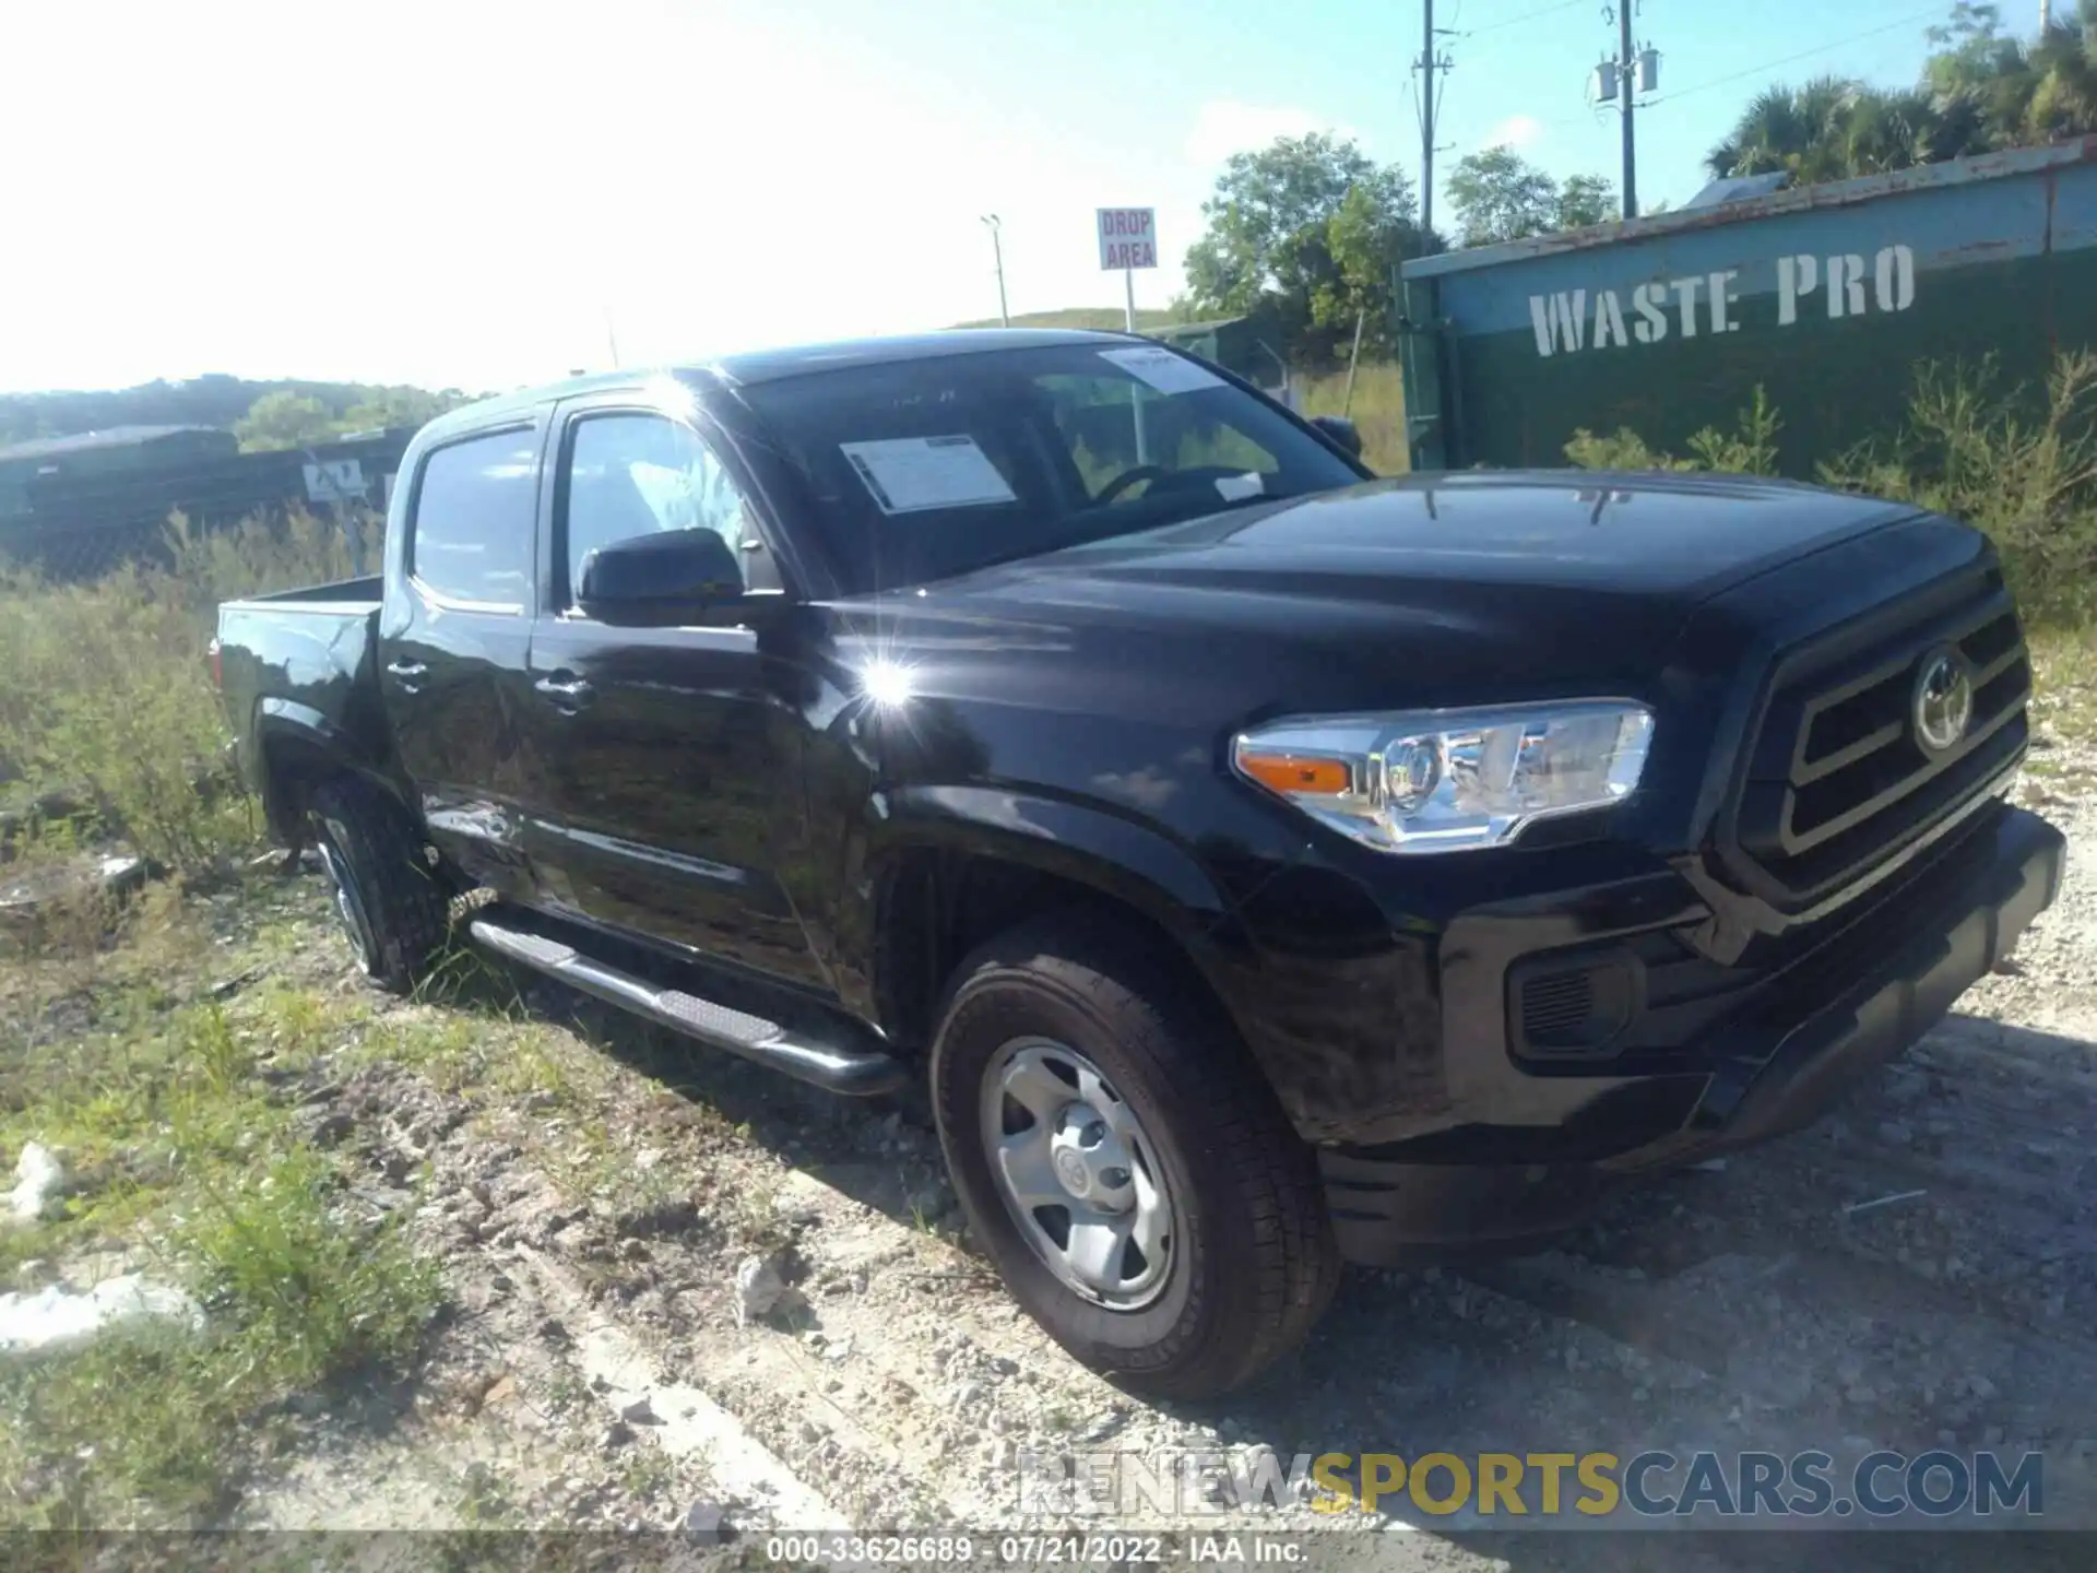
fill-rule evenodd
<path id="1" fill-rule="evenodd" d="M 1153 1407 L 1069 1363 L 958 1233 L 923 1112 L 828 1101 L 554 986 L 533 1030 L 608 1068 L 587 1116 L 344 1049 L 281 1095 L 409 1208 L 455 1313 L 398 1393 L 312 1405 L 254 1527 L 1011 1527 L 1021 1456 L 1208 1449 L 1680 1453 L 2042 1449 L 2097 1523 L 2097 776 L 2022 793 L 2072 839 L 2059 904 L 1902 1063 L 1812 1130 L 1634 1193 L 1541 1256 L 1350 1271 L 1332 1317 L 1223 1405 Z M 325 938 L 285 969 L 356 990 Z M 392 1026 L 430 1005 L 382 1007 Z M 583 1126 L 602 1147 L 579 1164 Z M 738 1269 L 778 1273 L 740 1315 Z M 1288 1493 L 1281 1493 L 1288 1495 Z M 1300 1500 L 1183 1525 L 1329 1527 Z M 1357 1521 L 1359 1523 L 1359 1521 Z M 1323 1560 L 1623 1567 L 1621 1537 L 1478 1539 L 1411 1512 Z M 1095 1525 L 1101 1527 L 1101 1525 Z M 1166 1527 L 1160 1521 L 1158 1527 Z M 1422 1533 L 1405 1533 L 1418 1529 Z M 1642 1537 L 1655 1542 L 1661 1537 Z M 1663 1565 L 1768 1560 L 1768 1535 Z M 1856 1535 L 1831 1552 L 1860 1556 Z M 1912 1542 L 1885 1565 L 1915 1565 Z M 2017 1558 L 2024 1563 L 2024 1554 Z"/>

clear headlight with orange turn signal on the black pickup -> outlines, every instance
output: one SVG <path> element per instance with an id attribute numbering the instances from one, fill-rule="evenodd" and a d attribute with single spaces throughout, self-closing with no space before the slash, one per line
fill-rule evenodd
<path id="1" fill-rule="evenodd" d="M 1531 820 L 1629 797 L 1652 711 L 1623 698 L 1309 715 L 1241 732 L 1231 763 L 1380 852 L 1501 847 Z"/>

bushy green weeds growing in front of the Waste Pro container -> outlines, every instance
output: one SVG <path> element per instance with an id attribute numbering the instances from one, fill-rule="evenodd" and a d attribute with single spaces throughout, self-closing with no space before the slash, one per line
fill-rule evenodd
<path id="1" fill-rule="evenodd" d="M 2084 627 L 2097 615 L 2097 352 L 2063 352 L 2042 413 L 2003 388 L 1990 363 L 1923 365 L 1898 432 L 1820 466 L 1820 480 L 1919 503 L 1986 531 L 2032 623 Z M 1757 388 L 1732 432 L 1703 430 L 1688 457 L 1655 453 L 1631 430 L 1581 430 L 1566 457 L 1610 470 L 1776 472 L 1782 422 Z"/>

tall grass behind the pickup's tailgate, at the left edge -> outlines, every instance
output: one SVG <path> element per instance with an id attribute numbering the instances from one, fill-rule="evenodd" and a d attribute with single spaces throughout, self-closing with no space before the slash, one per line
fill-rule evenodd
<path id="1" fill-rule="evenodd" d="M 214 608 L 350 577 L 375 562 L 375 531 L 294 514 L 201 533 L 176 518 L 168 545 L 172 566 L 132 564 L 92 583 L 0 573 L 10 852 L 117 835 L 191 870 L 256 839 L 206 661 Z"/>

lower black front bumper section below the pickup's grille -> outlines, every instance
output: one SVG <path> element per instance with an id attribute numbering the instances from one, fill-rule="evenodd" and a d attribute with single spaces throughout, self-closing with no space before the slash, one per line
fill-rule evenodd
<path id="1" fill-rule="evenodd" d="M 1988 816 L 1948 854 L 1942 879 L 1873 914 L 1868 927 L 1881 938 L 1843 952 L 1852 965 L 1833 988 L 1759 998 L 1720 1028 L 1720 1047 L 1692 1072 L 1613 1078 L 1615 1139 L 1604 1149 L 1569 1143 L 1564 1128 L 1537 1128 L 1527 1141 L 1497 1133 L 1462 1158 L 1451 1143 L 1323 1147 L 1342 1254 L 1390 1265 L 1520 1246 L 1579 1223 L 1640 1172 L 1810 1124 L 2009 956 L 2059 893 L 2063 862 L 2061 833 L 2036 814 Z"/>

